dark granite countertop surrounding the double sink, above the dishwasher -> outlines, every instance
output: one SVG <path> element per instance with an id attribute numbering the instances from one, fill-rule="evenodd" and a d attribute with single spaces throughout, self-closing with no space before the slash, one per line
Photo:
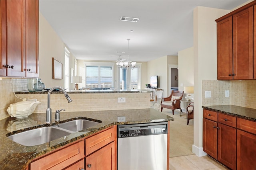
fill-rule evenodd
<path id="1" fill-rule="evenodd" d="M 117 122 L 118 116 L 125 116 L 125 122 Z M 56 139 L 42 145 L 27 147 L 20 145 L 6 137 L 6 134 L 11 135 L 38 127 L 56 125 L 78 117 L 89 120 L 100 120 L 102 123 L 86 129 Z M 54 121 L 54 113 L 52 113 Z M 14 119 L 8 117 L 0 120 L 0 169 L 1 170 L 24 170 L 32 159 L 46 154 L 52 150 L 58 149 L 69 143 L 80 140 L 88 135 L 92 135 L 102 129 L 112 125 L 134 124 L 134 123 L 150 123 L 161 121 L 173 121 L 170 117 L 155 109 L 130 109 L 130 110 L 108 110 L 108 111 L 84 111 L 84 112 L 65 112 L 60 113 L 60 122 L 46 124 L 46 113 L 32 113 L 29 117 Z M 12 133 L 11 133 L 12 132 Z"/>

